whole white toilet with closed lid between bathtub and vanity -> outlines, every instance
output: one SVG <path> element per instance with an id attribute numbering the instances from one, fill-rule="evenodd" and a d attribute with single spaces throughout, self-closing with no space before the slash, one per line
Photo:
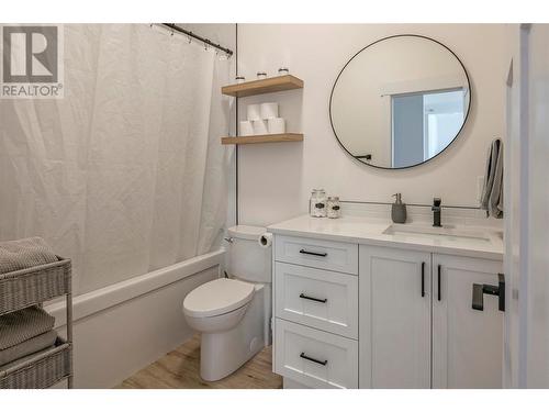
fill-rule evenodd
<path id="1" fill-rule="evenodd" d="M 272 256 L 265 231 L 229 227 L 229 278 L 203 283 L 184 298 L 187 323 L 201 333 L 200 375 L 206 381 L 231 375 L 270 344 Z"/>

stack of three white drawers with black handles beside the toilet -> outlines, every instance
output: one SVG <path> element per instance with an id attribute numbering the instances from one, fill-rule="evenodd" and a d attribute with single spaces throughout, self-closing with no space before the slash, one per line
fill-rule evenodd
<path id="1" fill-rule="evenodd" d="M 277 235 L 273 252 L 274 372 L 358 388 L 358 244 Z"/>

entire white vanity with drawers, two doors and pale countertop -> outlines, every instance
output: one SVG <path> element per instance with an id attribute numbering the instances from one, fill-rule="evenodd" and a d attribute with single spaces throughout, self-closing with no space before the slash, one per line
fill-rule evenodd
<path id="1" fill-rule="evenodd" d="M 472 308 L 473 285 L 498 286 L 498 246 L 293 222 L 270 227 L 273 371 L 284 387 L 502 387 L 498 298 Z"/>

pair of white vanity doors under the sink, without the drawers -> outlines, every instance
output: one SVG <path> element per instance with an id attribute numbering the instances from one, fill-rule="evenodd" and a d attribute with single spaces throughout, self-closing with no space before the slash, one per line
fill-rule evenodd
<path id="1" fill-rule="evenodd" d="M 360 246 L 360 388 L 501 388 L 497 297 L 472 309 L 473 285 L 502 263 Z"/>

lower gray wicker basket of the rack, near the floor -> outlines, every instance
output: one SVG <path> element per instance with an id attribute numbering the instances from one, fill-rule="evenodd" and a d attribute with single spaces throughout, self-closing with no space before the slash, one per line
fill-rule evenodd
<path id="1" fill-rule="evenodd" d="M 44 389 L 71 376 L 71 345 L 57 338 L 55 347 L 31 355 L 26 360 L 0 368 L 0 389 Z"/>

